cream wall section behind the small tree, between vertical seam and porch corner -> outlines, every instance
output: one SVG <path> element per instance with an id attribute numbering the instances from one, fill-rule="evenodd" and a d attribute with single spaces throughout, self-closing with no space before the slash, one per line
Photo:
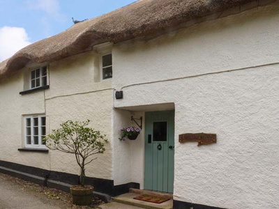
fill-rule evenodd
<path id="1" fill-rule="evenodd" d="M 112 131 L 111 81 L 95 82 L 98 54 L 88 52 L 71 56 L 50 65 L 50 91 L 46 91 L 46 114 L 49 131 L 59 127 L 63 121 L 86 121 L 107 139 Z M 53 70 L 52 70 L 53 69 Z M 97 160 L 86 166 L 86 176 L 112 179 L 112 143 L 107 144 L 104 154 L 93 155 Z M 51 151 L 51 169 L 80 174 L 75 156 Z"/>

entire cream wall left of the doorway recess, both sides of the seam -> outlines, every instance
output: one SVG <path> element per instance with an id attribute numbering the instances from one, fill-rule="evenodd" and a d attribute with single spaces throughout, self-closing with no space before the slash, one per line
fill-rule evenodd
<path id="1" fill-rule="evenodd" d="M 79 174 L 75 156 L 57 151 L 26 153 L 24 148 L 24 114 L 46 114 L 47 132 L 69 119 L 91 120 L 91 127 L 111 139 L 113 89 L 111 80 L 99 79 L 98 54 L 87 52 L 50 63 L 50 89 L 27 95 L 23 91 L 23 69 L 16 77 L 0 84 L 0 160 L 41 169 Z M 112 179 L 111 143 L 103 155 L 98 155 L 86 168 L 86 176 Z"/>

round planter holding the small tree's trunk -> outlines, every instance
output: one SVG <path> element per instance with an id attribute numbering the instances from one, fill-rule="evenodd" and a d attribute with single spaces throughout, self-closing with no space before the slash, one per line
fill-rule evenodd
<path id="1" fill-rule="evenodd" d="M 88 206 L 92 203 L 93 187 L 89 185 L 76 185 L 70 187 L 70 194 L 72 194 L 73 204 L 79 206 Z"/>

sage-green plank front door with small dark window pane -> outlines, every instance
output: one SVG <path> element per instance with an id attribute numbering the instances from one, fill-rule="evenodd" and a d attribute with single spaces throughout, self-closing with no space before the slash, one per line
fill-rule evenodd
<path id="1" fill-rule="evenodd" d="M 145 114 L 144 189 L 174 191 L 174 111 Z"/>

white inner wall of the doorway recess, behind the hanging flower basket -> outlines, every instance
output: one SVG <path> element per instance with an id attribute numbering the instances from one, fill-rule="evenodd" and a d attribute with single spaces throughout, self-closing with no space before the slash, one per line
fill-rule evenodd
<path id="1" fill-rule="evenodd" d="M 141 189 L 144 185 L 144 130 L 136 140 L 120 141 L 121 127 L 137 125 L 131 121 L 130 117 L 140 118 L 144 112 L 133 112 L 121 109 L 114 111 L 113 125 L 113 179 L 114 185 L 135 182 L 140 183 Z M 138 122 L 138 121 L 137 121 Z M 144 126 L 144 124 L 143 124 Z"/>

